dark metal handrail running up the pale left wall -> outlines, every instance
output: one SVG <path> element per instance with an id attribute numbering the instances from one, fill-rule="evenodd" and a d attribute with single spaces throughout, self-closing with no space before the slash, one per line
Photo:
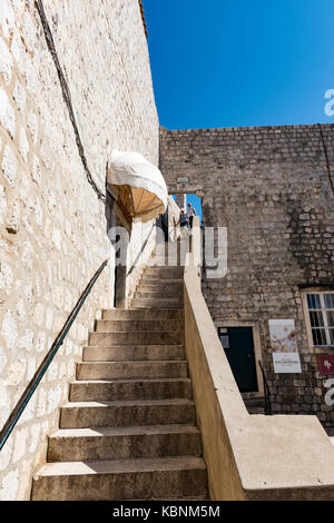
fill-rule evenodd
<path id="1" fill-rule="evenodd" d="M 107 266 L 109 259 L 106 259 L 100 268 L 95 273 L 92 278 L 90 279 L 89 284 L 85 288 L 84 293 L 79 297 L 75 308 L 70 313 L 69 317 L 67 318 L 63 327 L 61 328 L 60 333 L 58 334 L 57 338 L 55 339 L 50 351 L 45 356 L 43 361 L 41 362 L 40 366 L 36 371 L 32 379 L 29 382 L 26 391 L 23 392 L 22 396 L 18 401 L 17 405 L 12 409 L 9 418 L 4 423 L 1 432 L 0 432 L 0 451 L 3 447 L 4 443 L 7 442 L 8 437 L 10 436 L 12 430 L 14 428 L 16 424 L 19 421 L 19 417 L 23 413 L 26 406 L 28 405 L 29 399 L 31 398 L 32 394 L 37 389 L 40 381 L 42 379 L 43 375 L 46 374 L 50 363 L 52 362 L 53 357 L 58 353 L 59 347 L 62 345 L 65 337 L 67 336 L 73 320 L 78 316 L 82 305 L 85 304 L 90 290 L 92 289 L 94 285 L 96 284 L 97 279 L 99 278 L 100 274 L 102 273 L 104 268 Z"/>

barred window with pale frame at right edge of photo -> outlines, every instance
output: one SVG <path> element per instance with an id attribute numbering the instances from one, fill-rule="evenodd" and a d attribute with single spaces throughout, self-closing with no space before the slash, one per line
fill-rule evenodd
<path id="1" fill-rule="evenodd" d="M 314 345 L 334 346 L 334 293 L 312 293 L 306 296 Z"/>

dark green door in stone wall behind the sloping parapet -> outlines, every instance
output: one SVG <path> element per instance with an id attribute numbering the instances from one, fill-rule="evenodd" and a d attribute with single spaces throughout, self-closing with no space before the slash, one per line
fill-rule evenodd
<path id="1" fill-rule="evenodd" d="M 218 336 L 240 392 L 257 392 L 252 327 L 219 327 Z"/>

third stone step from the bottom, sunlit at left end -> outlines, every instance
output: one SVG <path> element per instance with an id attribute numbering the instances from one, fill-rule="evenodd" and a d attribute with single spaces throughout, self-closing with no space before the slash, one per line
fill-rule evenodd
<path id="1" fill-rule="evenodd" d="M 60 428 L 134 425 L 195 425 L 190 399 L 138 399 L 68 403 L 60 411 Z"/>

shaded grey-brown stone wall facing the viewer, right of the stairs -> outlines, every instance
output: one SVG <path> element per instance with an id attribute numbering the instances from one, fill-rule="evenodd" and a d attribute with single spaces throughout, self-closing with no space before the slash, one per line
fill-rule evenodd
<path id="1" fill-rule="evenodd" d="M 334 129 L 323 132 L 334 170 Z M 303 286 L 334 288 L 334 195 L 325 166 L 318 126 L 160 131 L 169 193 L 204 195 L 204 225 L 228 230 L 228 274 L 203 283 L 216 326 L 256 322 L 274 411 L 316 413 L 333 427 L 302 306 Z M 272 318 L 296 320 L 303 374 L 274 374 Z"/>

